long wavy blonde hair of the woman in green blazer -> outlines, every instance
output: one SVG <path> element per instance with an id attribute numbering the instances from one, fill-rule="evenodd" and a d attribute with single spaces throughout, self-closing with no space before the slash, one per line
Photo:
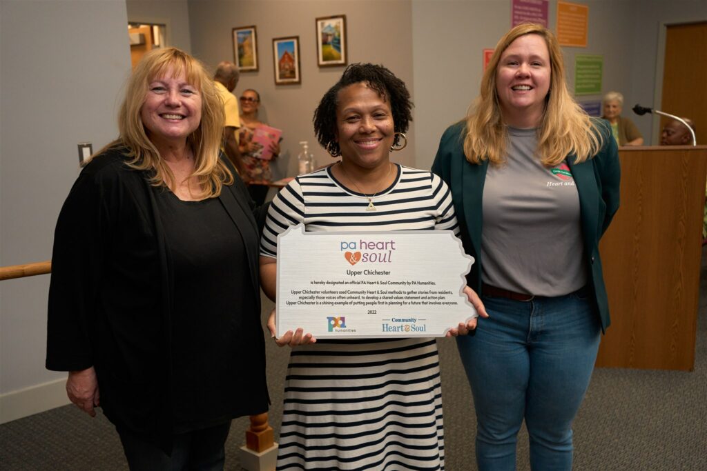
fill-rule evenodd
<path id="1" fill-rule="evenodd" d="M 501 54 L 510 43 L 523 35 L 539 35 L 545 40 L 550 54 L 550 90 L 545 97 L 545 110 L 538 129 L 537 153 L 543 165 L 554 167 L 575 154 L 575 162 L 583 162 L 595 155 L 602 146 L 602 137 L 596 121 L 592 121 L 573 100 L 565 83 L 562 52 L 555 36 L 542 25 L 523 23 L 504 35 L 491 56 L 489 66 L 481 78 L 481 94 L 469 107 L 464 155 L 469 162 L 479 164 L 488 159 L 501 165 L 506 157 L 506 126 L 496 92 L 496 72 Z"/>

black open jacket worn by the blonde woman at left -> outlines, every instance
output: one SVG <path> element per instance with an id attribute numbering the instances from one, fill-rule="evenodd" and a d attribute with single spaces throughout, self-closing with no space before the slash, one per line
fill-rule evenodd
<path id="1" fill-rule="evenodd" d="M 62 207 L 54 233 L 49 285 L 47 369 L 95 367 L 100 405 L 118 427 L 171 442 L 170 401 L 173 271 L 154 191 L 146 172 L 125 165 L 124 148 L 91 160 Z M 218 405 L 222 418 L 265 412 L 269 405 L 258 283 L 259 230 L 264 210 L 255 208 L 235 182 L 218 198 L 245 245 L 255 309 L 238 335 L 239 361 L 223 387 L 236 390 Z M 260 226 L 262 227 L 262 225 Z M 209 234 L 204 234 L 208 239 Z M 247 277 L 246 277 L 247 279 Z M 226 288 L 224 288 L 226 289 Z M 194 378 L 199 388 L 199 378 Z M 224 395 L 218 395 L 224 397 Z M 208 418 L 206 418 L 208 419 Z"/>

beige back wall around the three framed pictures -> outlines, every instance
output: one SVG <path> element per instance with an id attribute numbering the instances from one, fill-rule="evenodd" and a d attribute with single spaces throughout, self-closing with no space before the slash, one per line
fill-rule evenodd
<path id="1" fill-rule="evenodd" d="M 299 141 L 309 141 L 317 165 L 331 157 L 315 140 L 312 114 L 324 93 L 336 83 L 343 67 L 319 68 L 315 18 L 346 15 L 349 63 L 373 62 L 390 68 L 412 90 L 411 2 L 389 1 L 190 1 L 192 52 L 211 67 L 233 61 L 231 29 L 256 25 L 259 71 L 242 73 L 235 94 L 247 88 L 261 95 L 262 119 L 283 130 L 283 155 L 274 165 L 274 178 L 296 174 Z M 272 39 L 299 36 L 300 85 L 275 85 Z M 414 136 L 414 128 L 410 133 Z M 392 154 L 397 162 L 414 165 L 412 140 Z"/>

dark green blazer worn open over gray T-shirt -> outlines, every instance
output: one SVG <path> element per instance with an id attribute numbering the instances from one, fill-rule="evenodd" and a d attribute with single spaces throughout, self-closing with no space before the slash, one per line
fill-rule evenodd
<path id="1" fill-rule="evenodd" d="M 464 157 L 465 124 L 465 121 L 460 121 L 445 131 L 432 171 L 442 177 L 452 191 L 464 250 L 475 259 L 472 270 L 467 275 L 467 283 L 480 292 L 481 264 L 484 263 L 481 260 L 481 198 L 484 196 L 484 181 L 489 161 L 472 164 Z M 588 273 L 588 287 L 593 292 L 595 312 L 601 319 L 603 331 L 609 327 L 611 321 L 599 256 L 599 239 L 619 208 L 621 169 L 617 143 L 612 138 L 611 129 L 605 122 L 598 120 L 597 129 L 603 143 L 599 153 L 580 164 L 574 163 L 574 155 L 568 155 L 567 165 L 572 171 L 579 193 L 584 256 L 591 271 Z"/>

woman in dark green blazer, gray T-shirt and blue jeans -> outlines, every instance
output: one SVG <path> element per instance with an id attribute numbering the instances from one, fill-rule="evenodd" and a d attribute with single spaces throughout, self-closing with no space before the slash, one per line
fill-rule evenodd
<path id="1" fill-rule="evenodd" d="M 617 144 L 565 83 L 554 35 L 523 24 L 496 45 L 467 119 L 433 172 L 452 189 L 467 277 L 489 318 L 457 338 L 477 413 L 479 470 L 571 470 L 572 421 L 609 326 L 599 239 L 619 207 Z"/>

